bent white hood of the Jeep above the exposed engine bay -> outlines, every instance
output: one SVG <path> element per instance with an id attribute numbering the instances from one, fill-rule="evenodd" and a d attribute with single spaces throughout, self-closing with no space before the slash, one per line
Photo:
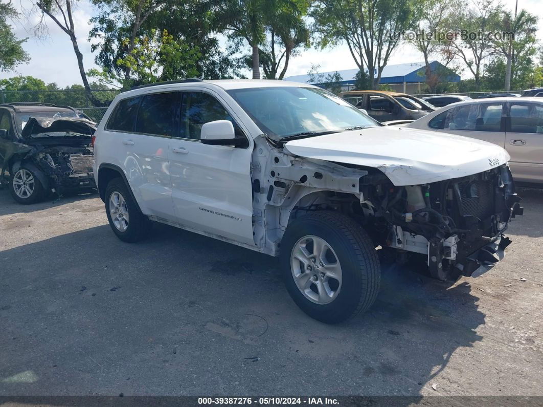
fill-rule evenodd
<path id="1" fill-rule="evenodd" d="M 401 127 L 371 127 L 292 140 L 301 157 L 381 170 L 394 185 L 420 185 L 490 170 L 510 156 L 500 146 L 453 134 Z"/>

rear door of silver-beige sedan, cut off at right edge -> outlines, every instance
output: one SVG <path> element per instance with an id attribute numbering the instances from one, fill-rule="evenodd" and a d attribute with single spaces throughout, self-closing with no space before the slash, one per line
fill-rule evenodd
<path id="1" fill-rule="evenodd" d="M 516 180 L 543 182 L 543 103 L 509 102 L 506 149 Z"/>

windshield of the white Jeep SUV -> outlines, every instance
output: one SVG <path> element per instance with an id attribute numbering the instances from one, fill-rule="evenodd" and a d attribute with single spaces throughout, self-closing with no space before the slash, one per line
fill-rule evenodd
<path id="1" fill-rule="evenodd" d="M 252 87 L 229 95 L 273 139 L 380 126 L 349 102 L 314 87 Z"/>

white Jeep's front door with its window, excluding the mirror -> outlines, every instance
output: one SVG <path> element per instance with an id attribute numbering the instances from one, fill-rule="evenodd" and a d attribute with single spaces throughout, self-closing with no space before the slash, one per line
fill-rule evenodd
<path id="1" fill-rule="evenodd" d="M 201 143 L 201 127 L 215 120 L 230 120 L 236 135 L 247 137 L 218 95 L 183 92 L 179 134 L 169 151 L 175 214 L 186 227 L 252 246 L 252 145 L 249 139 L 248 148 Z"/>

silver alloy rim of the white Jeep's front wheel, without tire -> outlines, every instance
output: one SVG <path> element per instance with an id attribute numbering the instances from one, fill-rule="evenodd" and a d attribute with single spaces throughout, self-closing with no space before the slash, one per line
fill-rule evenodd
<path id="1" fill-rule="evenodd" d="M 329 304 L 339 294 L 342 270 L 336 252 L 321 237 L 307 235 L 291 252 L 292 277 L 300 292 L 310 301 Z"/>

